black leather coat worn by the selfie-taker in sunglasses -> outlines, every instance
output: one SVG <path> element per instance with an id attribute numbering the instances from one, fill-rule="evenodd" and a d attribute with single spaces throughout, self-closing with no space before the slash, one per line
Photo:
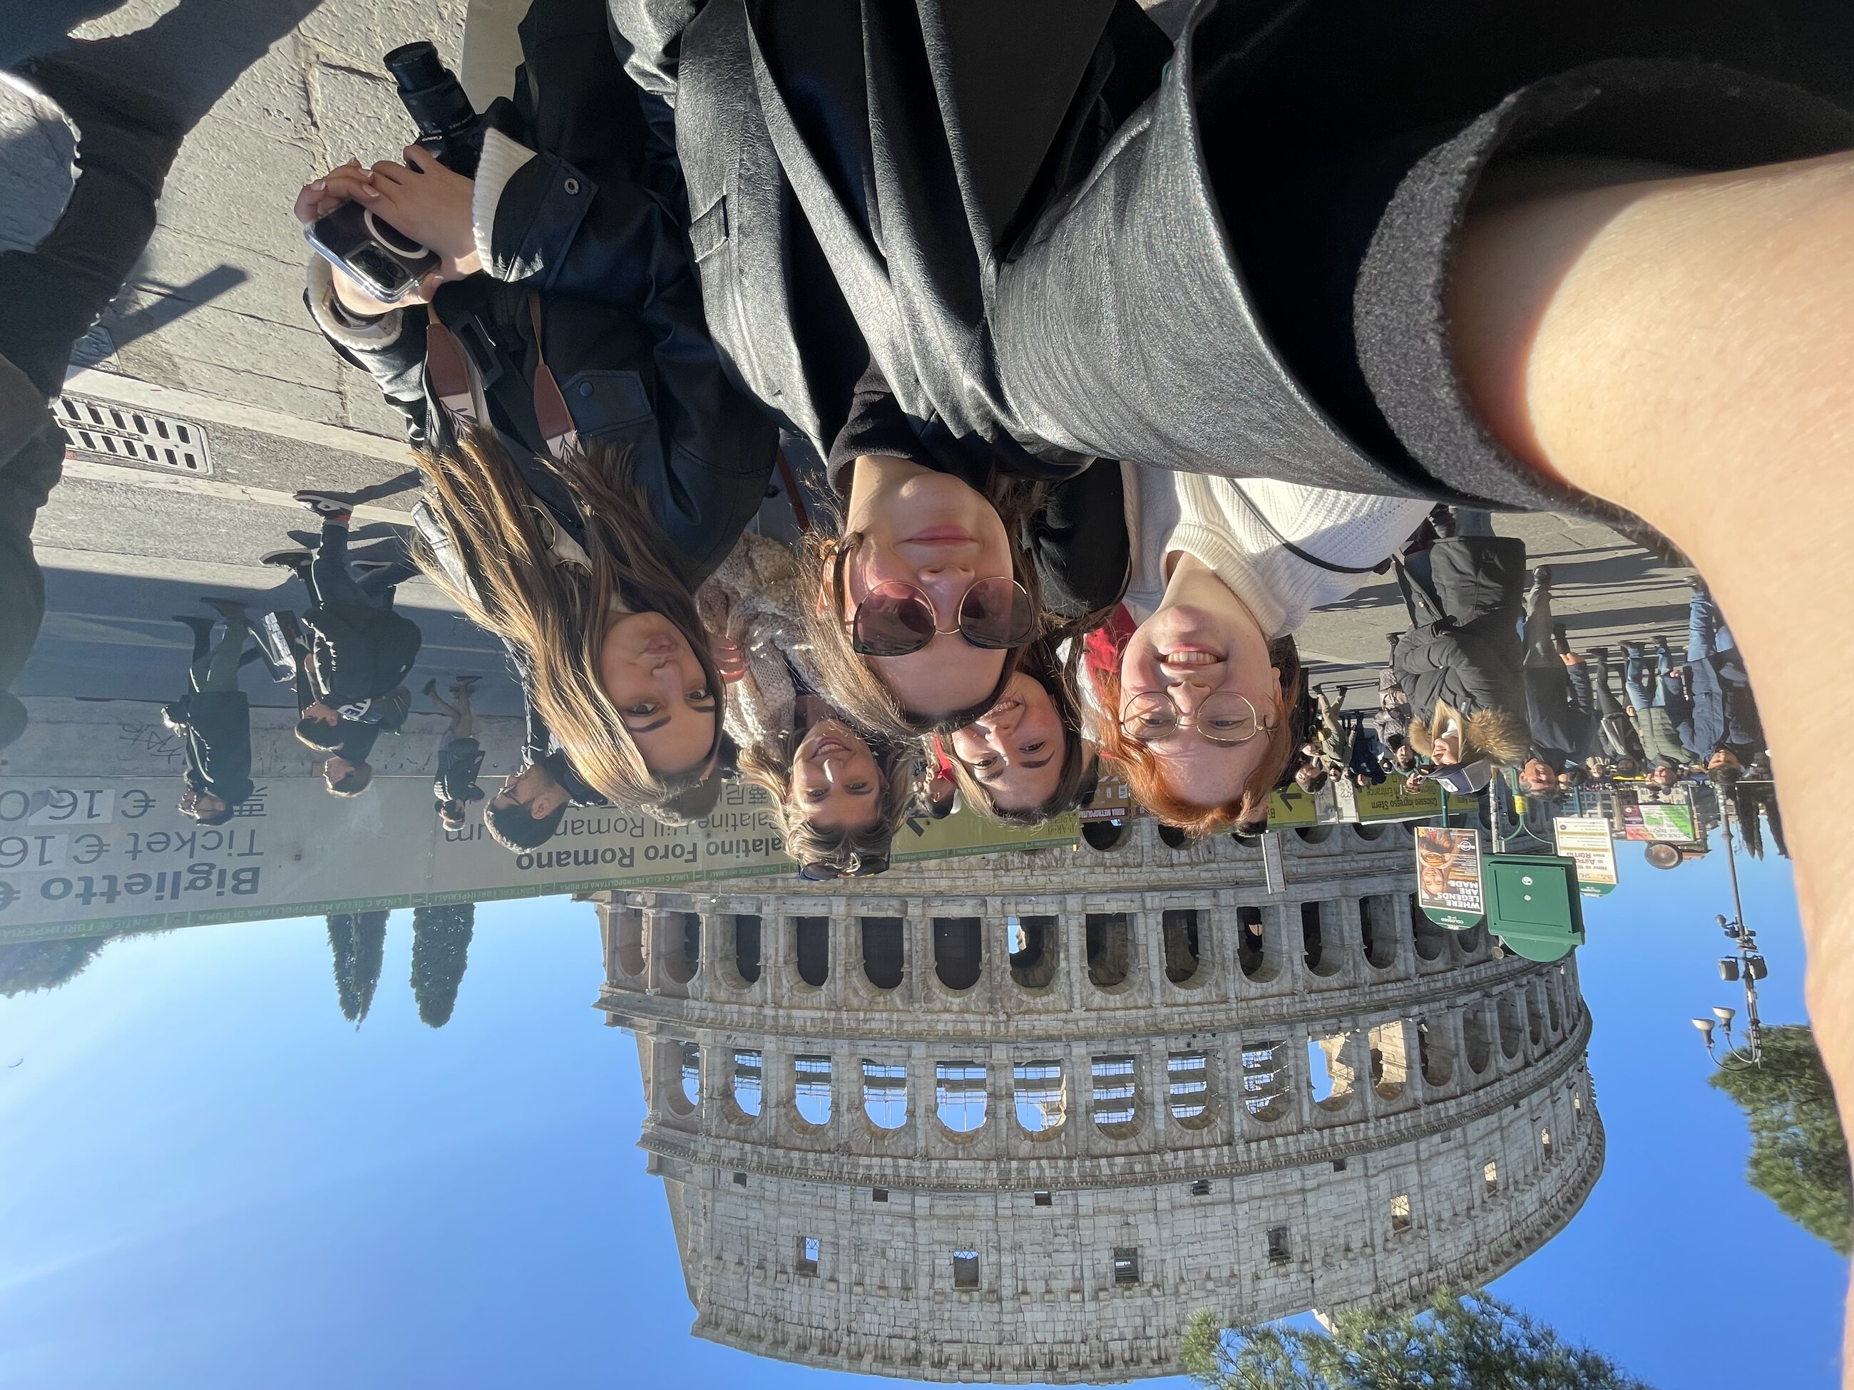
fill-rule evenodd
<path id="1" fill-rule="evenodd" d="M 1213 2 L 1168 52 L 1131 0 L 610 0 L 677 106 L 716 339 L 819 447 L 860 371 L 847 311 L 923 428 L 1023 471 L 1524 508 L 1589 499 L 1500 450 L 1450 360 L 1450 243 L 1489 165 L 1544 135 L 1689 169 L 1854 135 L 1693 63 L 1559 80 L 1700 56 L 1839 95 L 1847 6 L 1567 4 Z"/>

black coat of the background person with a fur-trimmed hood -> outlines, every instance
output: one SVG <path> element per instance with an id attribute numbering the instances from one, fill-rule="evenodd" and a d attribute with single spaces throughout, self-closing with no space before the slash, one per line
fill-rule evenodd
<path id="1" fill-rule="evenodd" d="M 1416 719 L 1448 701 L 1461 714 L 1526 714 L 1518 621 L 1526 543 L 1511 536 L 1459 536 L 1429 549 L 1433 593 L 1409 586 L 1411 630 L 1390 665 Z"/>

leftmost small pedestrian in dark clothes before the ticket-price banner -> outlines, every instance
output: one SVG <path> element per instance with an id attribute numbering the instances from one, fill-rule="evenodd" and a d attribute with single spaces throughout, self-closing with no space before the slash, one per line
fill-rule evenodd
<path id="1" fill-rule="evenodd" d="M 185 791 L 180 812 L 200 825 L 224 825 L 252 793 L 250 702 L 237 688 L 250 623 L 243 604 L 208 599 L 224 621 L 224 636 L 211 641 L 210 617 L 176 617 L 193 630 L 193 665 L 187 693 L 161 710 L 167 727 L 185 739 Z"/>

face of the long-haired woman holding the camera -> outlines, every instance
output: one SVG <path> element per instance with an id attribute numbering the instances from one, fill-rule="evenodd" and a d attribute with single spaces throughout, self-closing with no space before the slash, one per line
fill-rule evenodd
<path id="1" fill-rule="evenodd" d="M 699 767 L 714 751 L 719 691 L 662 613 L 614 617 L 599 645 L 599 684 L 658 777 Z"/>

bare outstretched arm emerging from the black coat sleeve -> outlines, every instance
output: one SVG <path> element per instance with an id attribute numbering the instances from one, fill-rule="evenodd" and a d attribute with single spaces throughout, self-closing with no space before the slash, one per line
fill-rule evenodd
<path id="1" fill-rule="evenodd" d="M 1815 1036 L 1854 1123 L 1854 845 L 1810 749 L 1854 715 L 1854 156 L 1470 215 L 1448 308 L 1498 439 L 1657 526 L 1730 615 L 1795 812 Z"/>

